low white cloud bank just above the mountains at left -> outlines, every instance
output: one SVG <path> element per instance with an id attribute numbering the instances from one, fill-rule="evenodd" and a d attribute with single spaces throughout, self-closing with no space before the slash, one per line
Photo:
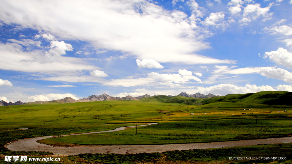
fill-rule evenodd
<path id="1" fill-rule="evenodd" d="M 51 101 L 51 100 L 59 100 L 64 99 L 65 97 L 71 97 L 74 100 L 79 100 L 76 95 L 73 95 L 71 93 L 49 93 L 49 94 L 43 94 L 43 95 L 35 95 L 35 96 L 29 96 L 26 98 L 27 102 L 35 102 L 35 101 Z"/>

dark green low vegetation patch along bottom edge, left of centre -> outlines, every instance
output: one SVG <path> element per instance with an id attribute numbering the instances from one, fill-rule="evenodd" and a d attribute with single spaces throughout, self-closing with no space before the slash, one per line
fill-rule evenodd
<path id="1" fill-rule="evenodd" d="M 149 162 L 157 161 L 162 157 L 160 153 L 137 153 L 137 154 L 79 154 L 80 158 L 86 159 L 92 162 L 101 163 L 115 163 L 115 164 L 131 164 L 134 162 Z"/>

